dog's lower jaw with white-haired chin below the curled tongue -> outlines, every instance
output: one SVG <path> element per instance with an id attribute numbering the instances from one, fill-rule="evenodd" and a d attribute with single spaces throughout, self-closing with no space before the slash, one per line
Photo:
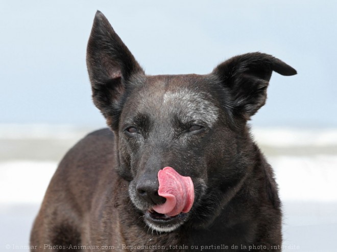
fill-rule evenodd
<path id="1" fill-rule="evenodd" d="M 180 213 L 175 216 L 168 216 L 160 214 L 153 209 L 145 212 L 145 222 L 155 231 L 159 232 L 172 232 L 181 226 L 187 219 L 187 213 Z"/>

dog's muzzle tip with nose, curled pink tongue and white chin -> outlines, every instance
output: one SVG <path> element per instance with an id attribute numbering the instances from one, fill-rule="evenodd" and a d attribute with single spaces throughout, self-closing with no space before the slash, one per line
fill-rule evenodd
<path id="1" fill-rule="evenodd" d="M 130 185 L 131 200 L 145 212 L 145 222 L 153 230 L 171 232 L 188 217 L 195 197 L 194 184 L 171 167 L 160 170 L 158 180 L 149 178 L 143 176 L 135 187 Z"/>

